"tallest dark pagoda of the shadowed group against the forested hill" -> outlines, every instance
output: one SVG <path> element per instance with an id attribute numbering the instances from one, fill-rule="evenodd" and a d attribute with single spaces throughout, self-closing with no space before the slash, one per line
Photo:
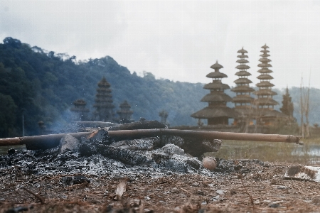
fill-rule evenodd
<path id="1" fill-rule="evenodd" d="M 95 95 L 94 117 L 96 121 L 112 121 L 114 105 L 112 104 L 111 85 L 105 77 L 97 84 L 97 94 Z"/>

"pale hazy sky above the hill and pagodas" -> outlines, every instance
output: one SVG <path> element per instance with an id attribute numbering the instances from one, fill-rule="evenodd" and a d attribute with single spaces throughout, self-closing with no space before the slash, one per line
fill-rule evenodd
<path id="1" fill-rule="evenodd" d="M 138 74 L 203 82 L 216 60 L 235 86 L 237 51 L 247 50 L 252 86 L 262 45 L 270 47 L 272 83 L 320 89 L 320 1 L 6 1 L 0 40 L 78 60 L 110 55 Z"/>

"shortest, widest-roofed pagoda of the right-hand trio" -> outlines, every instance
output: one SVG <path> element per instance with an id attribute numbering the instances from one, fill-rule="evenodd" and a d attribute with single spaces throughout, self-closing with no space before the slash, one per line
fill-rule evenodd
<path id="1" fill-rule="evenodd" d="M 218 61 L 215 62 L 210 68 L 215 70 L 210 72 L 206 77 L 213 79 L 213 82 L 206 84 L 203 89 L 210 89 L 210 94 L 206 94 L 201 102 L 208 102 L 208 107 L 201 109 L 193 114 L 191 117 L 199 119 L 208 119 L 208 125 L 228 125 L 228 119 L 237 117 L 237 113 L 234 109 L 227 107 L 227 102 L 232 102 L 232 98 L 225 94 L 225 89 L 230 89 L 228 84 L 223 84 L 221 79 L 223 77 L 228 77 L 219 70 L 223 66 L 218 64 Z M 198 122 L 200 124 L 201 122 Z"/>

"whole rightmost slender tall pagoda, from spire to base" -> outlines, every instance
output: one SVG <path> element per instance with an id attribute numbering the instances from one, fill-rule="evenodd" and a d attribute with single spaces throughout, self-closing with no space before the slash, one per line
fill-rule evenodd
<path id="1" fill-rule="evenodd" d="M 255 106 L 257 107 L 257 124 L 270 125 L 277 118 L 287 117 L 285 114 L 274 110 L 274 105 L 278 105 L 279 103 L 274 101 L 273 96 L 277 94 L 277 92 L 272 91 L 272 87 L 274 84 L 270 82 L 273 77 L 270 75 L 272 70 L 269 70 L 269 67 L 272 65 L 269 64 L 271 60 L 268 58 L 270 55 L 268 54 L 270 51 L 267 50 L 269 48 L 267 45 L 263 45 L 261 47 L 263 50 L 262 58 L 260 58 L 260 64 L 258 67 L 261 67 L 260 72 L 261 75 L 257 77 L 260 80 L 260 83 L 257 83 L 256 86 L 259 87 L 259 90 L 253 92 L 257 99 L 255 99 Z"/>

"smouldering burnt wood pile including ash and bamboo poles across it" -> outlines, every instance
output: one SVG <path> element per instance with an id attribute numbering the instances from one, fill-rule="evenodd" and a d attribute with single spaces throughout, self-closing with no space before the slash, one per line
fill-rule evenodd
<path id="1" fill-rule="evenodd" d="M 299 143 L 295 136 L 167 129 L 158 121 L 145 119 L 128 124 L 110 123 L 103 128 L 77 125 L 80 131 L 77 133 L 0 139 L 2 146 L 22 143 L 27 148 L 19 152 L 9 150 L 8 155 L 1 157 L 1 166 L 18 165 L 26 168 L 27 173 L 103 174 L 134 166 L 198 173 L 203 169 L 200 161 L 203 154 L 218 151 L 220 139 Z M 225 166 L 228 161 L 216 158 L 215 162 L 216 171 L 233 170 L 233 166 Z"/>

